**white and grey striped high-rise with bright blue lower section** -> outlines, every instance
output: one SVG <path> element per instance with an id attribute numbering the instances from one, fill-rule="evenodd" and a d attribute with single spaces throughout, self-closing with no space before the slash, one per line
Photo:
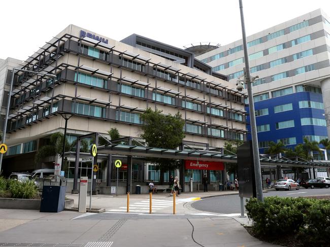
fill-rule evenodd
<path id="1" fill-rule="evenodd" d="M 324 115 L 330 114 L 329 21 L 316 10 L 247 37 L 251 74 L 259 76 L 253 98 L 261 153 L 270 141 L 293 147 L 304 137 L 328 138 L 330 125 Z M 243 78 L 242 39 L 197 58 L 227 75 L 232 85 Z"/>

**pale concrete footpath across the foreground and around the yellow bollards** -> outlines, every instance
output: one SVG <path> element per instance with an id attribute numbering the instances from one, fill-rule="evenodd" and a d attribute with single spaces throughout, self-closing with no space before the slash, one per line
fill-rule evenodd
<path id="1" fill-rule="evenodd" d="M 62 211 L 41 213 L 34 210 L 0 209 L 0 246 L 276 246 L 252 237 L 238 214 L 222 215 L 190 207 L 195 200 L 209 196 L 238 194 L 236 191 L 186 192 L 176 197 L 168 193 L 130 195 L 126 213 L 126 195 L 93 195 L 92 208 L 105 213 Z M 67 194 L 78 207 L 78 195 Z M 89 208 L 89 197 L 87 208 Z M 243 219 L 243 222 L 240 222 Z"/>

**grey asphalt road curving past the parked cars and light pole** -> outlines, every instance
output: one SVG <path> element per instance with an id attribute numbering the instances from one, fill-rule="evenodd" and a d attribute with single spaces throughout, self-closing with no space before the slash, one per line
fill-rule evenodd
<path id="1" fill-rule="evenodd" d="M 306 195 L 330 195 L 330 188 L 315 188 L 315 189 L 305 189 L 300 190 L 269 190 L 267 193 L 263 193 L 264 197 L 267 196 L 279 196 L 279 197 L 300 197 Z M 245 205 L 244 198 L 244 205 Z M 197 210 L 218 213 L 218 214 L 238 214 L 241 213 L 239 195 L 223 195 L 211 198 L 206 198 L 203 200 L 195 201 L 191 204 L 191 207 Z"/>

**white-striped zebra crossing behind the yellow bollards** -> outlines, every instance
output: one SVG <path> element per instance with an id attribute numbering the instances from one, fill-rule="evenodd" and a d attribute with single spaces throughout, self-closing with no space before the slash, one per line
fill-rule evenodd
<path id="1" fill-rule="evenodd" d="M 173 208 L 173 199 L 152 199 L 152 212 L 166 211 Z M 129 204 L 129 212 L 131 213 L 149 213 L 149 199 L 140 200 Z M 182 204 L 183 201 L 176 200 L 176 205 Z M 107 212 L 126 212 L 126 207 L 119 207 L 118 209 L 112 209 Z"/>

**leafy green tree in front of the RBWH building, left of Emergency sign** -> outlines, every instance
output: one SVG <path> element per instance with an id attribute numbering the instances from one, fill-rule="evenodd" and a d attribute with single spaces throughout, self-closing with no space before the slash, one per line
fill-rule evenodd
<path id="1" fill-rule="evenodd" d="M 160 110 L 148 108 L 142 115 L 141 138 L 146 140 L 148 146 L 157 148 L 176 149 L 185 137 L 183 132 L 184 120 L 181 114 L 161 114 Z M 176 159 L 150 158 L 161 172 L 172 171 L 179 167 Z M 162 174 L 162 173 L 161 173 Z"/>

